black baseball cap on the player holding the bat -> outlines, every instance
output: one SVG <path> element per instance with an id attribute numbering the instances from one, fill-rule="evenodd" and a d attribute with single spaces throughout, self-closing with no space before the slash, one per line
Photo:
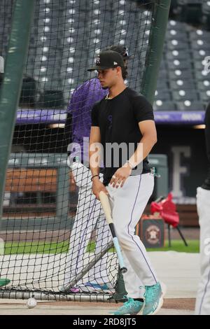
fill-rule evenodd
<path id="1" fill-rule="evenodd" d="M 117 66 L 125 67 L 123 56 L 113 50 L 104 50 L 97 56 L 95 66 L 87 69 L 87 71 L 106 70 Z"/>

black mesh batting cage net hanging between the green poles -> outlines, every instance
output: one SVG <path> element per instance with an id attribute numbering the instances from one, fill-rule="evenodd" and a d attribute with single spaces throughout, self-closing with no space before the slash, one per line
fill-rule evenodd
<path id="1" fill-rule="evenodd" d="M 106 91 L 97 72 L 87 69 L 100 50 L 118 46 L 114 50 L 127 64 L 125 81 L 140 92 L 158 1 L 35 2 L 6 174 L 0 293 L 104 300 L 115 292 L 118 261 L 104 214 L 91 193 L 85 152 L 92 105 Z M 2 62 L 14 3 L 0 1 Z"/>

